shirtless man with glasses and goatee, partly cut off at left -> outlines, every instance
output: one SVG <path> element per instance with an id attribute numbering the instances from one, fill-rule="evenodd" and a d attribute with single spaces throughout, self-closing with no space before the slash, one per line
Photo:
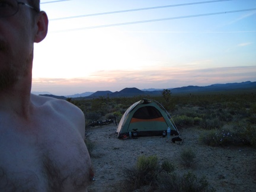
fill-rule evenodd
<path id="1" fill-rule="evenodd" d="M 33 47 L 46 37 L 40 0 L 0 0 L 0 191 L 87 191 L 85 119 L 30 94 Z"/>

